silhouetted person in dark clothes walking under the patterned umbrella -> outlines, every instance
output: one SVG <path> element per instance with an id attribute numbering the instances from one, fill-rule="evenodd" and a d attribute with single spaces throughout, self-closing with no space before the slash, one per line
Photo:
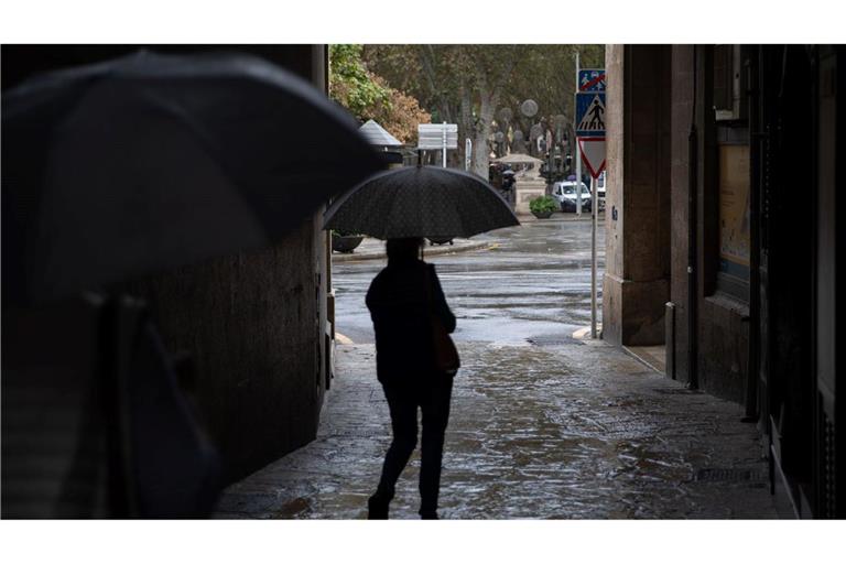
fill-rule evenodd
<path id="1" fill-rule="evenodd" d="M 455 330 L 432 264 L 421 259 L 423 239 L 388 239 L 388 265 L 367 292 L 376 332 L 376 370 L 391 414 L 393 441 L 384 456 L 368 519 L 388 519 L 397 480 L 417 444 L 417 409 L 422 413 L 420 516 L 437 519 L 444 434 L 449 420 L 453 376 L 436 368 L 432 316 L 447 333 Z"/>

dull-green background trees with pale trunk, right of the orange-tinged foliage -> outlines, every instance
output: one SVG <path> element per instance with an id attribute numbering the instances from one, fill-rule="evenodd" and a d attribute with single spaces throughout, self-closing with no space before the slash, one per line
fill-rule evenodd
<path id="1" fill-rule="evenodd" d="M 419 99 L 435 121 L 458 123 L 459 139 L 474 142 L 473 170 L 487 177 L 488 139 L 500 107 L 518 118 L 519 104 L 532 98 L 538 118 L 573 121 L 576 52 L 584 67 L 604 66 L 601 45 L 367 45 L 362 58 Z M 514 126 L 528 134 L 531 122 L 518 118 Z M 459 143 L 456 156 L 463 153 Z"/>

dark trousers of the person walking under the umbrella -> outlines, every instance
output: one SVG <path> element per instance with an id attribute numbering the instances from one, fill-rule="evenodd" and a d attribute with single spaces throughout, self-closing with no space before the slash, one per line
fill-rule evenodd
<path id="1" fill-rule="evenodd" d="M 453 378 L 435 376 L 417 384 L 382 384 L 391 412 L 393 441 L 384 456 L 382 477 L 376 496 L 389 502 L 393 499 L 397 480 L 417 445 L 417 408 L 422 413 L 422 444 L 420 465 L 420 514 L 437 511 L 441 487 L 441 462 L 444 434 L 449 421 Z"/>

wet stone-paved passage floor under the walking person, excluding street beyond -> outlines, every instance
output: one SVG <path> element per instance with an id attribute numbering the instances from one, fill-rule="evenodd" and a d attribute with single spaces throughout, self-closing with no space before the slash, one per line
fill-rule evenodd
<path id="1" fill-rule="evenodd" d="M 601 341 L 458 343 L 442 519 L 776 518 L 742 409 Z M 372 345 L 337 348 L 317 438 L 228 488 L 224 519 L 364 519 L 390 443 Z M 416 519 L 417 453 L 391 518 Z"/>

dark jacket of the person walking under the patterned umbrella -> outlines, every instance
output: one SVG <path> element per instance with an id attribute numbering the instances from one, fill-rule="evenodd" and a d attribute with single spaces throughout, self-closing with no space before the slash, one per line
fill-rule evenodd
<path id="1" fill-rule="evenodd" d="M 370 284 L 366 302 L 376 332 L 379 381 L 402 382 L 431 375 L 435 370 L 432 312 L 448 333 L 455 330 L 455 315 L 446 304 L 435 267 L 422 260 L 389 262 Z"/>

